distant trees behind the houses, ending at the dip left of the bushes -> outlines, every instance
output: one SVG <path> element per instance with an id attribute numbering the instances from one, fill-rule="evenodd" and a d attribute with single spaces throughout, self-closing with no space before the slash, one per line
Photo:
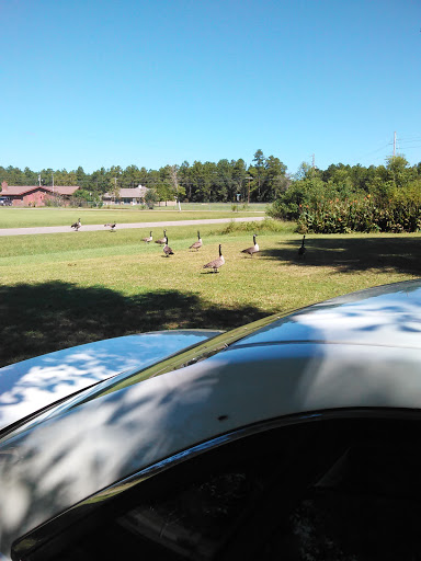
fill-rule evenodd
<path id="1" fill-rule="evenodd" d="M 152 190 L 157 201 L 179 198 L 190 202 L 272 202 L 289 183 L 286 165 L 274 156 L 266 158 L 257 150 L 250 165 L 244 160 L 223 159 L 218 162 L 164 165 L 159 170 L 128 165 L 112 165 L 86 173 L 77 170 L 0 167 L 0 183 L 9 185 L 79 185 L 78 196 L 100 198 L 104 193 L 117 195 L 121 188 L 145 185 Z"/>

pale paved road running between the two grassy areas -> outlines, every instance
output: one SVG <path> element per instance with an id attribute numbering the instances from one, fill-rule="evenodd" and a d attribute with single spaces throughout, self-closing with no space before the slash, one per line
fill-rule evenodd
<path id="1" fill-rule="evenodd" d="M 201 226 L 204 224 L 225 224 L 225 222 L 252 222 L 264 220 L 264 216 L 254 216 L 252 218 L 209 218 L 206 220 L 173 220 L 167 222 L 136 222 L 136 224 L 117 224 L 116 230 L 125 230 L 127 228 L 141 228 L 144 230 L 151 228 L 167 228 L 169 226 Z M 92 232 L 95 230 L 105 230 L 104 225 L 90 224 L 80 228 L 79 232 Z M 45 226 L 41 228 L 2 228 L 0 236 L 23 236 L 34 233 L 65 233 L 72 232 L 70 226 Z M 147 232 L 149 233 L 149 232 Z"/>

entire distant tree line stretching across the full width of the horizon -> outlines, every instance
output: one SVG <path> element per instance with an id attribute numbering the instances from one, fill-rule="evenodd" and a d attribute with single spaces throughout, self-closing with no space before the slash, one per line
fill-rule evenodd
<path id="1" fill-rule="evenodd" d="M 244 160 L 223 159 L 218 162 L 184 161 L 159 170 L 112 165 L 86 173 L 77 170 L 32 171 L 0 167 L 0 183 L 9 185 L 79 185 L 78 196 L 87 201 L 104 193 L 117 195 L 123 187 L 145 185 L 156 201 L 178 198 L 189 202 L 263 202 L 273 203 L 278 217 L 297 219 L 299 205 L 320 197 L 346 198 L 352 194 L 374 193 L 386 196 L 390 188 L 421 181 L 421 162 L 410 167 L 402 156 L 389 158 L 386 164 L 363 167 L 343 163 L 320 170 L 303 163 L 294 175 L 276 157 L 257 150 L 250 165 Z M 421 187 L 421 185 L 419 185 Z M 421 188 L 420 188 L 421 191 Z"/>

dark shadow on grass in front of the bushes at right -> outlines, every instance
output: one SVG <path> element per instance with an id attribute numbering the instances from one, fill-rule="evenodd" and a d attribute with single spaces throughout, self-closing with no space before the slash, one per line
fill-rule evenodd
<path id="1" fill-rule="evenodd" d="M 421 275 L 420 237 L 311 238 L 306 237 L 306 253 L 299 257 L 301 240 L 280 242 L 278 248 L 260 252 L 261 257 L 285 264 L 334 267 L 339 273 L 378 270 Z"/>

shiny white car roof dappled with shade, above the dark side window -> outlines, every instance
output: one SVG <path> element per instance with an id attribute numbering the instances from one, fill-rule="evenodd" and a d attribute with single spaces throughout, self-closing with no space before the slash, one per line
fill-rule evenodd
<path id="1" fill-rule="evenodd" d="M 141 383 L 105 386 L 10 434 L 0 442 L 0 551 L 101 489 L 218 435 L 323 411 L 420 409 L 420 282 L 337 298 L 274 319 L 206 359 L 181 355 Z M 16 496 L 22 514 L 11 525 Z"/>

